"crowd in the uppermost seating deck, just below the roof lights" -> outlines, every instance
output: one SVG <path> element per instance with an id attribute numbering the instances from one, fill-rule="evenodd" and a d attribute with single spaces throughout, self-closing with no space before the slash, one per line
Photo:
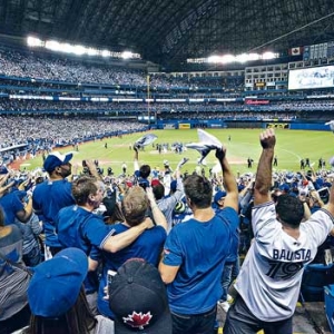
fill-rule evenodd
<path id="1" fill-rule="evenodd" d="M 110 86 L 147 86 L 147 75 L 141 70 L 126 70 L 110 65 L 79 63 L 70 59 L 46 58 L 33 52 L 0 50 L 0 75 L 75 84 L 106 84 Z M 240 80 L 240 79 L 238 79 Z M 45 84 L 46 85 L 46 84 Z M 222 87 L 219 78 L 198 80 L 196 78 L 173 78 L 167 75 L 151 75 L 151 89 L 186 87 Z"/>

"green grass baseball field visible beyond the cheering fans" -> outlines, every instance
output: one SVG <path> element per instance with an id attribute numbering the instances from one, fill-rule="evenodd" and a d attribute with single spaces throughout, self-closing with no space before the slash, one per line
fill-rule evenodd
<path id="1" fill-rule="evenodd" d="M 261 146 L 258 136 L 261 129 L 207 129 L 207 132 L 216 136 L 227 148 L 227 157 L 235 173 L 245 173 L 247 168 L 247 158 L 254 159 L 254 166 L 250 169 L 256 171 Z M 197 130 L 153 130 L 158 136 L 155 144 L 175 141 L 197 143 Z M 228 135 L 232 140 L 227 141 Z M 100 166 L 107 168 L 110 166 L 115 175 L 121 173 L 121 164 L 128 165 L 128 173 L 134 170 L 134 151 L 129 146 L 135 143 L 143 134 L 124 136 L 122 138 L 110 138 L 104 140 L 91 141 L 79 146 L 79 151 L 75 153 L 72 164 L 78 165 L 81 169 L 82 159 L 98 159 Z M 328 159 L 334 156 L 334 135 L 331 131 L 304 131 L 304 130 L 276 130 L 276 155 L 278 158 L 278 170 L 298 170 L 301 158 L 308 157 L 314 168 L 317 169 L 318 159 L 323 157 L 326 161 L 326 168 L 330 169 Z M 105 148 L 108 143 L 108 148 Z M 72 147 L 59 149 L 62 153 L 72 151 Z M 139 153 L 139 164 L 149 164 L 151 167 L 164 168 L 163 161 L 167 159 L 174 169 L 183 156 L 189 158 L 189 161 L 183 167 L 183 170 L 193 171 L 197 164 L 199 154 L 194 149 L 188 149 L 181 155 L 175 153 L 158 154 L 151 146 L 147 146 L 145 151 Z M 214 151 L 206 158 L 207 170 L 216 165 Z M 23 161 L 27 169 L 33 169 L 42 166 L 41 156 Z"/>

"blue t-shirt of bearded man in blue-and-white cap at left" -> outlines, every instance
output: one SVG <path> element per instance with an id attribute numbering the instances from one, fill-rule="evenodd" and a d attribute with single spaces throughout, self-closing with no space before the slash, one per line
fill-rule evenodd
<path id="1" fill-rule="evenodd" d="M 55 219 L 59 210 L 75 204 L 71 194 L 71 184 L 67 179 L 46 180 L 35 188 L 32 193 L 32 207 L 43 222 L 46 245 L 61 247 L 55 229 Z"/>

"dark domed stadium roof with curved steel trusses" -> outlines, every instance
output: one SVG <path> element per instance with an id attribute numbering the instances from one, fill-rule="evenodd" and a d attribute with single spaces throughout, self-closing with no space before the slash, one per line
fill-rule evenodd
<path id="1" fill-rule="evenodd" d="M 334 40 L 328 0 L 2 0 L 0 33 L 129 49 L 176 69 L 187 58 Z"/>

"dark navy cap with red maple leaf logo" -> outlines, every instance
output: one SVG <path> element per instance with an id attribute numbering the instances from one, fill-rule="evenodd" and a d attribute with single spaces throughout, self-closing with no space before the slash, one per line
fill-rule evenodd
<path id="1" fill-rule="evenodd" d="M 171 334 L 166 287 L 158 269 L 141 258 L 127 261 L 109 285 L 117 334 Z"/>

